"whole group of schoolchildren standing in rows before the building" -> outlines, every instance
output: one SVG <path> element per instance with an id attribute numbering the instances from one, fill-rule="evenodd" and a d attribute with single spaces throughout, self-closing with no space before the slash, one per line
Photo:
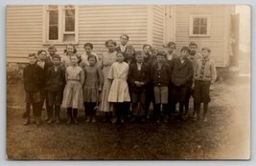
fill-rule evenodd
<path id="1" fill-rule="evenodd" d="M 60 122 L 60 106 L 67 110 L 67 123 L 78 123 L 78 111 L 84 110 L 85 122 L 96 122 L 96 112 L 105 112 L 104 121 L 125 122 L 150 118 L 155 122 L 183 120 L 189 115 L 189 99 L 194 96 L 194 120 L 200 119 L 203 103 L 203 121 L 207 121 L 210 86 L 217 74 L 211 50 L 191 42 L 189 47 L 175 52 L 175 43 L 169 51 L 159 51 L 144 45 L 135 52 L 128 45 L 128 35 L 120 36 L 121 44 L 107 40 L 107 52 L 101 58 L 91 43 L 84 44 L 84 53 L 77 54 L 73 45 L 67 45 L 60 57 L 56 47 L 50 46 L 49 56 L 43 50 L 29 54 L 30 64 L 24 68 L 26 114 L 24 125 L 31 123 L 33 106 L 35 124 L 39 125 L 45 102 L 47 123 Z M 152 103 L 152 114 L 150 106 Z M 176 115 L 176 104 L 178 114 Z M 184 112 L 185 108 L 185 112 Z M 113 114 L 114 113 L 114 114 Z"/>

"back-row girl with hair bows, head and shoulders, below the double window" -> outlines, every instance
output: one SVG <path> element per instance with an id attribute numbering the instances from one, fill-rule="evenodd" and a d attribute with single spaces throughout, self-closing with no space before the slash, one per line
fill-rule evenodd
<path id="1" fill-rule="evenodd" d="M 62 64 L 63 64 L 64 68 L 67 68 L 67 67 L 69 67 L 69 66 L 72 65 L 72 64 L 71 64 L 70 57 L 71 57 L 74 53 L 76 53 L 76 52 L 77 52 L 77 50 L 76 50 L 76 48 L 75 48 L 74 45 L 72 45 L 72 44 L 66 45 L 66 50 L 64 50 L 65 55 L 62 56 L 62 58 L 61 58 L 61 62 L 62 62 Z M 79 56 L 78 56 L 78 57 L 79 57 Z M 80 63 L 80 61 L 81 61 L 81 58 L 79 57 L 78 63 Z"/>

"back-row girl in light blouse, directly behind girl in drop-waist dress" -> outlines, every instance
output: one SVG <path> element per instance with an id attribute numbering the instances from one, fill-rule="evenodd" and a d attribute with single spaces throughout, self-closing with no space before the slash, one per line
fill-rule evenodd
<path id="1" fill-rule="evenodd" d="M 88 56 L 93 54 L 95 55 L 96 59 L 97 59 L 97 62 L 99 62 L 99 59 L 98 59 L 98 56 L 96 53 L 92 52 L 93 50 L 93 45 L 91 43 L 85 43 L 83 45 L 83 49 L 84 49 L 84 53 L 81 54 L 81 63 L 80 63 L 80 66 L 81 66 L 81 69 L 84 69 L 84 67 L 87 65 L 89 66 L 89 62 L 88 62 Z M 96 63 L 97 63 L 96 62 Z"/>

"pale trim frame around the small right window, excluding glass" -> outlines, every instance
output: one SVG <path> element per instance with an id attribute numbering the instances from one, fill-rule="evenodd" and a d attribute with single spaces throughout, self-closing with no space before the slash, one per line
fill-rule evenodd
<path id="1" fill-rule="evenodd" d="M 194 18 L 207 18 L 207 33 L 206 34 L 193 34 L 193 19 Z M 211 35 L 211 17 L 205 14 L 193 14 L 189 18 L 189 36 L 190 37 L 210 37 Z"/>

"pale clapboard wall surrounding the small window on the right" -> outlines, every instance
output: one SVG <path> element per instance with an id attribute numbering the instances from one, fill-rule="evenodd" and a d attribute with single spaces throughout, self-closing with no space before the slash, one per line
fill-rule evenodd
<path id="1" fill-rule="evenodd" d="M 202 47 L 208 47 L 212 50 L 211 57 L 215 60 L 218 67 L 224 67 L 224 56 L 228 56 L 227 45 L 225 41 L 226 33 L 224 31 L 228 26 L 226 11 L 229 10 L 226 6 L 218 5 L 202 5 L 202 6 L 176 6 L 175 17 L 175 41 L 177 52 L 180 52 L 181 47 L 188 46 L 191 41 L 198 44 L 198 51 Z M 189 36 L 189 19 L 193 14 L 210 15 L 211 27 L 209 37 L 190 37 Z"/>

